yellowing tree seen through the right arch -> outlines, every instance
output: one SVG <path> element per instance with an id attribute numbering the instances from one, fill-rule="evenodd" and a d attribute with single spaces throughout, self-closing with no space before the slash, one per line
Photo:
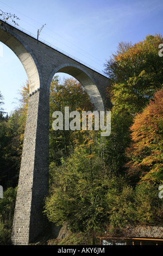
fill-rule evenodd
<path id="1" fill-rule="evenodd" d="M 54 131 L 52 123 L 53 112 L 61 111 L 65 117 L 65 107 L 69 111 L 88 111 L 93 105 L 85 92 L 83 86 L 74 78 L 67 78 L 60 82 L 59 77 L 53 77 L 50 88 L 50 161 L 57 161 L 60 164 L 61 157 L 68 156 L 73 151 L 74 142 L 80 137 L 80 133 L 71 130 Z M 78 136 L 78 138 L 77 138 Z"/>

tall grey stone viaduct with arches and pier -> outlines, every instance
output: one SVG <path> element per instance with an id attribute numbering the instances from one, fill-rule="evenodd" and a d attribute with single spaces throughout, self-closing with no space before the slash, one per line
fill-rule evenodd
<path id="1" fill-rule="evenodd" d="M 103 111 L 106 107 L 105 88 L 109 86 L 110 80 L 2 20 L 0 41 L 20 59 L 30 85 L 11 235 L 13 245 L 28 245 L 42 233 L 45 223 L 42 206 L 43 199 L 48 194 L 49 182 L 49 88 L 52 78 L 57 72 L 76 78 L 84 86 L 98 111 Z"/>

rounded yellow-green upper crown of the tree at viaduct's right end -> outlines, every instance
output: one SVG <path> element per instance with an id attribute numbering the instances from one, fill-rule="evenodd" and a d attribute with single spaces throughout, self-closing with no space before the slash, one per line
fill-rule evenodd
<path id="1" fill-rule="evenodd" d="M 134 45 L 120 43 L 105 63 L 105 72 L 114 81 L 109 88 L 112 103 L 120 111 L 138 113 L 163 83 L 163 59 L 159 57 L 161 35 L 148 35 Z"/>

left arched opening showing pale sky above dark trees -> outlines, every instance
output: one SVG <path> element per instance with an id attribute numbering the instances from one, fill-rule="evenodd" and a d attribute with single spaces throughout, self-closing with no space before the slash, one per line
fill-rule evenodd
<path id="1" fill-rule="evenodd" d="M 5 41 L 1 36 L 1 41 Z M 26 120 L 22 118 L 18 109 L 20 90 L 27 81 L 27 73 L 9 44 L 0 42 L 3 48 L 1 61 L 1 93 L 4 99 L 2 105 L 3 117 L 1 119 L 1 185 L 4 190 L 17 186 L 18 173 L 21 163 L 21 152 Z M 13 46 L 14 47 L 14 46 Z M 18 99 L 17 99 L 18 98 Z M 21 122 L 21 123 L 20 123 Z M 22 124 L 23 123 L 23 124 Z"/>

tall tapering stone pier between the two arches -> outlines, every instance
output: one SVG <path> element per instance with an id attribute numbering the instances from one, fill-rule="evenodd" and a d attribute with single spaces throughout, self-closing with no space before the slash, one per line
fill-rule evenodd
<path id="1" fill-rule="evenodd" d="M 12 229 L 14 245 L 28 245 L 41 233 L 43 199 L 48 194 L 49 93 L 29 97 L 26 132 Z"/>

